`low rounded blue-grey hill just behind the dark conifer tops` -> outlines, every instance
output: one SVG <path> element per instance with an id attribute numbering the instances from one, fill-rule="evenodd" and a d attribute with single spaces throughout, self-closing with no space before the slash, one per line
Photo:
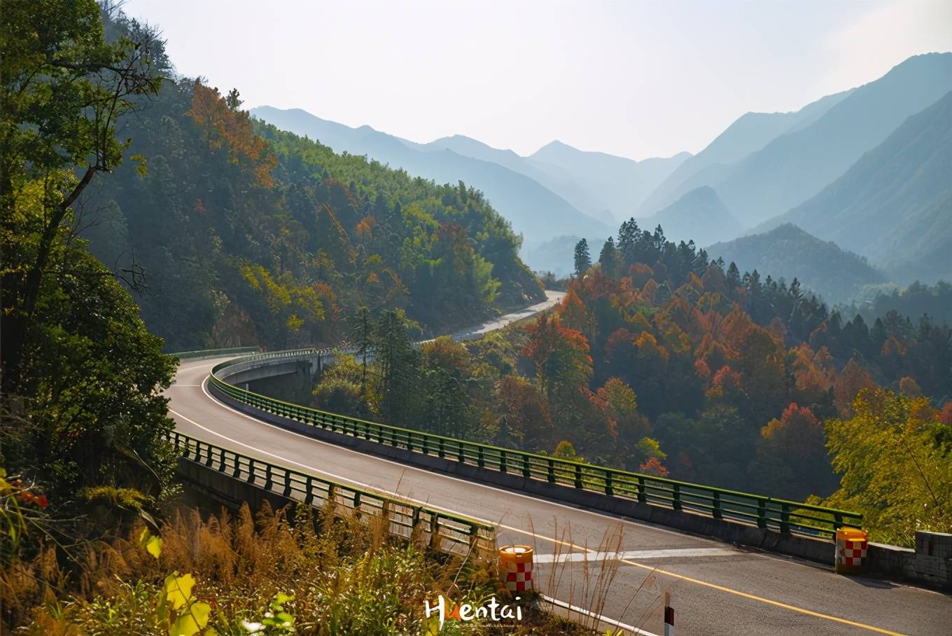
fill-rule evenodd
<path id="1" fill-rule="evenodd" d="M 848 301 L 864 285 L 885 282 L 883 273 L 865 259 L 826 243 L 794 225 L 785 224 L 764 234 L 744 236 L 707 248 L 711 258 L 734 262 L 742 271 L 757 269 L 762 276 L 797 278 L 824 300 Z"/>

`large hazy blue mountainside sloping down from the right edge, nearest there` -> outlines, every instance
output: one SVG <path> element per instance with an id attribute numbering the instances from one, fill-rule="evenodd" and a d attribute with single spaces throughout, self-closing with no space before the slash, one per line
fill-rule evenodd
<path id="1" fill-rule="evenodd" d="M 819 194 L 765 227 L 795 223 L 899 282 L 952 279 L 952 92 L 909 117 Z"/>

